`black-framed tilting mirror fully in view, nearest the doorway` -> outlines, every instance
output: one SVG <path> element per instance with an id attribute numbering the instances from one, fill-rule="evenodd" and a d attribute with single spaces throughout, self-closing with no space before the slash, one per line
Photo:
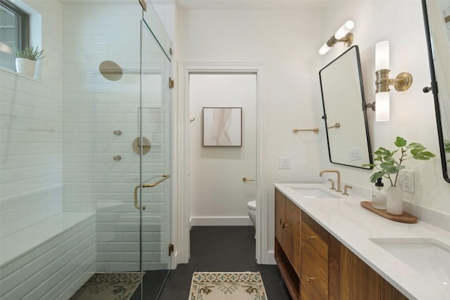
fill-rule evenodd
<path id="1" fill-rule="evenodd" d="M 349 167 L 372 164 L 366 101 L 358 46 L 319 72 L 330 162 Z"/>

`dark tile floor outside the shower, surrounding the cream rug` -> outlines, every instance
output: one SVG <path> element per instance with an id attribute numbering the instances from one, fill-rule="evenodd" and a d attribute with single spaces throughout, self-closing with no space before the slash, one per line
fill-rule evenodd
<path id="1" fill-rule="evenodd" d="M 289 300 L 278 267 L 256 263 L 254 235 L 252 226 L 193 227 L 191 259 L 170 271 L 158 300 L 187 300 L 195 271 L 259 271 L 269 300 Z"/>

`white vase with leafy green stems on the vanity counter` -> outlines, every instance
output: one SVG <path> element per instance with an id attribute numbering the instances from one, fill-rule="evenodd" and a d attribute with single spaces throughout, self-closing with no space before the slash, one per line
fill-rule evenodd
<path id="1" fill-rule="evenodd" d="M 399 177 L 399 171 L 404 169 L 403 162 L 407 159 L 419 159 L 428 160 L 435 157 L 432 152 L 427 151 L 420 143 L 406 143 L 404 138 L 397 136 L 394 141 L 394 145 L 397 146 L 396 150 L 390 151 L 386 148 L 380 147 L 373 152 L 375 162 L 380 164 L 364 164 L 364 167 L 375 167 L 377 172 L 372 174 L 371 182 L 375 183 L 378 178 L 388 178 L 391 186 L 387 189 L 386 195 L 386 210 L 388 214 L 403 214 L 403 206 L 401 200 L 401 189 L 397 187 L 397 178 Z M 400 157 L 396 159 L 394 155 L 399 152 Z"/>

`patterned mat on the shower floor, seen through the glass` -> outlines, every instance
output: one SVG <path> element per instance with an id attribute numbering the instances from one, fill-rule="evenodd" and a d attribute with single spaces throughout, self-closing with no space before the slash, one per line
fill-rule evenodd
<path id="1" fill-rule="evenodd" d="M 70 300 L 129 300 L 144 273 L 95 273 Z"/>

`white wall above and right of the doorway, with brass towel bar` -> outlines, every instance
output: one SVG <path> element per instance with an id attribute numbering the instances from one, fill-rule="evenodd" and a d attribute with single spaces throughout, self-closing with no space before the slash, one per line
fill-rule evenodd
<path id="1" fill-rule="evenodd" d="M 319 11 L 177 11 L 179 61 L 262 65 L 266 112 L 267 239 L 273 249 L 274 182 L 319 180 Z M 316 25 L 316 26 L 314 26 Z M 278 157 L 292 169 L 278 170 Z M 264 230 L 264 229 L 263 229 Z"/>

